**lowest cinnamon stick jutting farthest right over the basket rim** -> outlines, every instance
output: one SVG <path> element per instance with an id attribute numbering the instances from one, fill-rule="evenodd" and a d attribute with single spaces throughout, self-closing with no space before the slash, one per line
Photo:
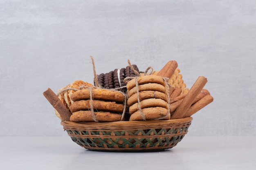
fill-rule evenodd
<path id="1" fill-rule="evenodd" d="M 183 118 L 192 116 L 211 102 L 213 102 L 213 97 L 211 95 L 204 96 L 202 99 L 198 100 L 198 102 L 196 102 L 189 108 Z"/>

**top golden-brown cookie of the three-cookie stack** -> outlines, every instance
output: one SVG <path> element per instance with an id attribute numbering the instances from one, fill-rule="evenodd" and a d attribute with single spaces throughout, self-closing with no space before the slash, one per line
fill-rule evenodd
<path id="1" fill-rule="evenodd" d="M 115 101 L 123 103 L 125 101 L 125 96 L 120 91 L 112 91 L 103 88 L 92 88 L 92 99 Z M 86 100 L 90 99 L 90 89 L 84 89 L 74 92 L 71 95 L 72 101 Z"/>

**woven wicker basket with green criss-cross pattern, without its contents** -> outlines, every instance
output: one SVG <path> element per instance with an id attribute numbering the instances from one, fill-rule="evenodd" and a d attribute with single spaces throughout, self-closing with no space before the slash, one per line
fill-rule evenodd
<path id="1" fill-rule="evenodd" d="M 172 120 L 62 121 L 72 141 L 94 151 L 159 151 L 176 146 L 188 132 L 192 117 Z"/>

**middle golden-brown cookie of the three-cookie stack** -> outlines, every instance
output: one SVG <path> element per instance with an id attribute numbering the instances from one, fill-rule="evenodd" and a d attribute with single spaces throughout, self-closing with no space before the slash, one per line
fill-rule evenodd
<path id="1" fill-rule="evenodd" d="M 101 100 L 92 100 L 93 108 L 97 111 L 110 111 L 116 113 L 123 113 L 124 104 L 117 104 L 116 102 L 105 102 Z M 90 110 L 90 100 L 79 100 L 71 104 L 70 111 L 72 113 L 79 110 Z"/>

